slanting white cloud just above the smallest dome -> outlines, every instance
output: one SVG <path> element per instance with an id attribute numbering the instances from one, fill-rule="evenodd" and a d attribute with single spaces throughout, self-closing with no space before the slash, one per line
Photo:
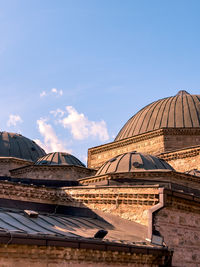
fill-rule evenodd
<path id="1" fill-rule="evenodd" d="M 34 140 L 40 145 L 47 153 L 49 152 L 71 152 L 65 144 L 59 140 L 51 124 L 47 123 L 46 119 L 37 120 L 38 130 L 44 138 L 44 142 L 39 139 Z"/>

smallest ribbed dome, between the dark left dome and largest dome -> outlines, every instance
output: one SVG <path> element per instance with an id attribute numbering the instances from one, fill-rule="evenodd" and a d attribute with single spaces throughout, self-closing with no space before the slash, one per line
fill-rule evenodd
<path id="1" fill-rule="evenodd" d="M 76 157 L 65 152 L 53 152 L 39 158 L 35 165 L 75 165 L 85 167 Z"/>

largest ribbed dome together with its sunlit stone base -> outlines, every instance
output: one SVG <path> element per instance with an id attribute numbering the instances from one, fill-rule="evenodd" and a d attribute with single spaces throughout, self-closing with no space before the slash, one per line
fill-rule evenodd
<path id="1" fill-rule="evenodd" d="M 200 145 L 200 95 L 179 91 L 147 105 L 131 117 L 114 142 L 88 150 L 88 167 L 136 150 L 159 155 Z"/>

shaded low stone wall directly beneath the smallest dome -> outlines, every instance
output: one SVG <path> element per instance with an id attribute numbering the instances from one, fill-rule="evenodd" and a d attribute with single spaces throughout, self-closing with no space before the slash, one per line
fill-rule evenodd
<path id="1" fill-rule="evenodd" d="M 77 181 L 95 175 L 96 171 L 78 166 L 28 166 L 11 170 L 10 173 L 14 178 Z"/>

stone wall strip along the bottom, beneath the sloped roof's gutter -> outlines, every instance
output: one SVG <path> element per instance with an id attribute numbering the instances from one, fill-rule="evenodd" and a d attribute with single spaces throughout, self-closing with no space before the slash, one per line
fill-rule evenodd
<path id="1" fill-rule="evenodd" d="M 1 267 L 158 267 L 164 256 L 67 247 L 0 245 Z M 160 264 L 160 265 L 159 265 Z"/>

